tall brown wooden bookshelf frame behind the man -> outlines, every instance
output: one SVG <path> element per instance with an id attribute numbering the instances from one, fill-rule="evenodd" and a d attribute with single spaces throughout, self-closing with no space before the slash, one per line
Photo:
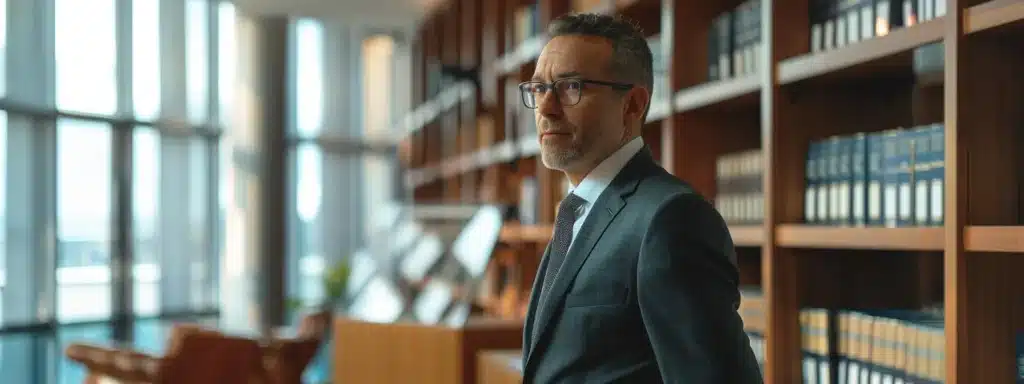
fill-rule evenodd
<path id="1" fill-rule="evenodd" d="M 561 175 L 540 161 L 532 113 L 514 86 L 532 74 L 547 39 L 540 31 L 552 18 L 582 10 L 577 7 L 615 11 L 671 41 L 664 51 L 671 97 L 652 105 L 643 132 L 666 169 L 719 201 L 717 162 L 737 152 L 762 153 L 763 224 L 730 222 L 729 230 L 742 283 L 760 287 L 769 309 L 767 383 L 802 380 L 804 307 L 934 302 L 944 307 L 945 382 L 1013 382 L 1014 337 L 1024 332 L 1024 157 L 1017 155 L 1024 147 L 1024 2 L 947 0 L 943 16 L 813 51 L 810 0 L 763 0 L 762 25 L 773 27 L 761 31 L 759 70 L 720 80 L 709 79 L 709 30 L 739 0 L 476 3 L 482 4 L 479 24 L 446 27 L 446 13 L 478 8 L 462 4 L 439 7 L 418 30 L 412 87 L 418 106 L 404 120 L 409 154 L 402 159 L 418 202 L 515 205 L 527 180 L 536 182 L 539 224 L 509 223 L 501 234 L 514 255 L 501 260 L 516 264 L 517 297 L 528 297 L 565 188 Z M 520 31 L 521 9 L 528 6 L 538 9 L 539 29 L 530 36 Z M 481 49 L 457 36 L 464 34 L 478 35 Z M 943 49 L 940 69 L 920 72 L 915 56 L 936 43 Z M 480 68 L 480 89 L 429 94 L 425 78 L 433 58 Z M 945 134 L 940 224 L 805 220 L 811 143 L 937 123 Z M 447 139 L 464 144 L 453 150 Z"/>

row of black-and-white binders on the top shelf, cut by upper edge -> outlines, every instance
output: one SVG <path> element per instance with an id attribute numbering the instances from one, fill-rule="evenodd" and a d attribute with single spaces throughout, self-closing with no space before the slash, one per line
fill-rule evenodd
<path id="1" fill-rule="evenodd" d="M 812 0 L 811 51 L 841 48 L 946 14 L 946 0 Z"/>

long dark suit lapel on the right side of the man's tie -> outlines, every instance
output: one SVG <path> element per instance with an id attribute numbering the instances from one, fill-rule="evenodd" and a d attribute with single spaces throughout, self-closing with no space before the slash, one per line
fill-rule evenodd
<path id="1" fill-rule="evenodd" d="M 597 245 L 597 242 L 608 228 L 608 225 L 611 224 L 611 221 L 614 220 L 618 212 L 626 206 L 626 197 L 636 190 L 640 179 L 646 175 L 646 170 L 652 165 L 656 166 L 649 150 L 644 147 L 623 167 L 623 170 L 618 172 L 611 181 L 611 184 L 608 185 L 608 188 L 594 203 L 594 207 L 580 228 L 580 233 L 572 242 L 568 254 L 565 255 L 565 261 L 562 262 L 561 268 L 555 275 L 554 283 L 552 283 L 544 297 L 540 298 L 541 305 L 532 309 L 535 313 L 530 323 L 530 332 L 536 334 L 537 337 L 530 339 L 529 353 L 526 356 L 524 370 L 530 369 L 530 362 L 534 361 L 530 357 L 535 355 L 534 350 L 537 347 L 537 343 L 545 338 L 550 331 L 548 329 L 549 323 L 552 316 L 561 308 L 565 300 L 565 295 L 568 293 L 569 287 L 572 286 L 580 267 L 587 261 L 587 258 L 594 250 L 594 246 Z M 545 252 L 545 259 L 547 259 L 547 251 Z M 541 273 L 543 271 L 538 271 L 539 275 L 543 275 Z M 534 287 L 538 287 L 536 283 Z M 534 301 L 539 298 L 536 292 L 537 289 L 534 291 L 530 306 L 535 306 Z M 539 332 L 534 332 L 532 328 L 540 328 Z"/>

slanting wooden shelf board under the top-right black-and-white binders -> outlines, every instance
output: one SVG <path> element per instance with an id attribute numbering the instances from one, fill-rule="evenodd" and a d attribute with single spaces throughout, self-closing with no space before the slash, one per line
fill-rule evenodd
<path id="1" fill-rule="evenodd" d="M 944 20 L 945 16 L 940 16 L 893 30 L 886 36 L 782 60 L 778 63 L 778 81 L 790 84 L 818 77 L 859 80 L 892 73 L 909 74 L 913 48 L 942 40 Z"/>

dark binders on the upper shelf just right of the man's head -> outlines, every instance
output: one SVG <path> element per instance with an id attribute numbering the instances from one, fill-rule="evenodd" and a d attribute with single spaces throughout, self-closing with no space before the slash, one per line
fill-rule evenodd
<path id="1" fill-rule="evenodd" d="M 756 74 L 762 46 L 760 0 L 719 14 L 708 33 L 708 80 Z"/>

